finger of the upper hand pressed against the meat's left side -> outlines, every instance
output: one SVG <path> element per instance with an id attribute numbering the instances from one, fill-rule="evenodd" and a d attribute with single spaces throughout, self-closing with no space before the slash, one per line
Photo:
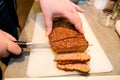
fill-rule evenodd
<path id="1" fill-rule="evenodd" d="M 52 17 L 45 17 L 45 25 L 46 25 L 46 35 L 49 35 L 52 31 Z"/>

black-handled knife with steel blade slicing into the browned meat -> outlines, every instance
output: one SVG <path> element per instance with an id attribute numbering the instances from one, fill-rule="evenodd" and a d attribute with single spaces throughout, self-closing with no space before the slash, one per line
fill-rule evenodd
<path id="1" fill-rule="evenodd" d="M 35 43 L 35 42 L 25 42 L 25 41 L 14 41 L 17 43 L 21 48 L 50 48 L 49 43 Z"/>

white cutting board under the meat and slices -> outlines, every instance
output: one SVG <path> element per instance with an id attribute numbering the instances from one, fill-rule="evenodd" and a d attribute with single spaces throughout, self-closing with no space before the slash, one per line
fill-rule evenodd
<path id="1" fill-rule="evenodd" d="M 90 55 L 91 60 L 88 62 L 90 66 L 90 73 L 110 72 L 113 67 L 106 56 L 106 53 L 99 44 L 97 38 L 92 32 L 86 18 L 82 13 L 78 13 L 83 22 L 85 37 L 90 44 L 86 52 Z M 34 34 L 32 42 L 48 43 L 48 37 L 45 35 L 45 25 L 42 13 L 37 14 Z M 36 48 L 31 49 L 27 75 L 29 77 L 47 77 L 47 76 L 62 76 L 80 74 L 77 71 L 66 72 L 59 70 L 54 62 L 55 54 L 50 48 Z"/>

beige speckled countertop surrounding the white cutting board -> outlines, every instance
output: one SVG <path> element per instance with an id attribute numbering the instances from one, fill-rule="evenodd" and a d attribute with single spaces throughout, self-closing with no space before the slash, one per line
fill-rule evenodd
<path id="1" fill-rule="evenodd" d="M 120 37 L 114 27 L 101 26 L 98 23 L 98 13 L 93 6 L 80 5 L 86 12 L 84 13 L 92 31 L 104 49 L 108 59 L 113 65 L 113 70 L 108 73 L 90 74 L 92 76 L 112 76 L 120 75 Z M 35 26 L 36 15 L 40 12 L 40 6 L 37 1 L 33 3 L 28 15 L 25 27 L 21 32 L 19 40 L 31 42 Z M 29 78 L 27 76 L 27 63 L 29 60 L 29 49 L 24 49 L 21 56 L 13 57 L 6 69 L 4 78 Z M 74 75 L 78 76 L 78 75 Z"/>

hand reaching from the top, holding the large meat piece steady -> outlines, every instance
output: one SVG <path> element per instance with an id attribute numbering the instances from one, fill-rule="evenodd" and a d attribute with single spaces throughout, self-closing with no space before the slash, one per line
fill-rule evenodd
<path id="1" fill-rule="evenodd" d="M 67 18 L 80 33 L 84 33 L 77 13 L 84 12 L 84 10 L 70 0 L 40 0 L 40 4 L 45 18 L 47 35 L 52 31 L 52 19 L 56 16 Z"/>

